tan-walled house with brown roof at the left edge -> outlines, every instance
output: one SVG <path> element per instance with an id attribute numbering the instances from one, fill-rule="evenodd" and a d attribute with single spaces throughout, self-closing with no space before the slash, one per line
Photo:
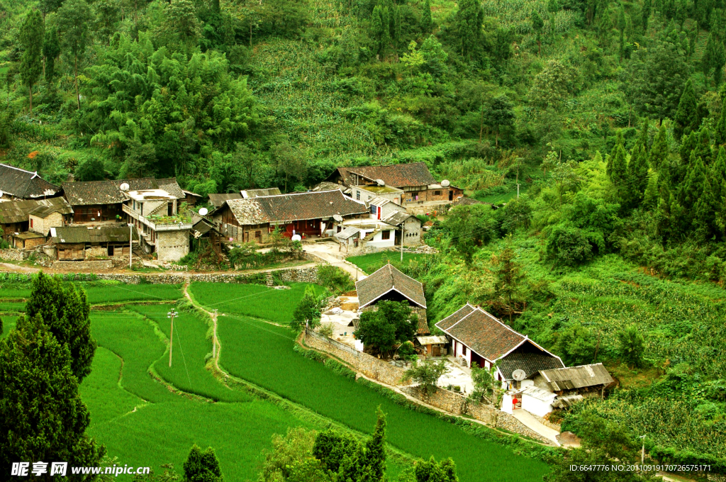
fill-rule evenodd
<path id="1" fill-rule="evenodd" d="M 9 200 L 0 203 L 0 228 L 2 237 L 9 241 L 11 236 L 25 234 L 48 235 L 50 228 L 68 224 L 73 216 L 73 208 L 62 197 L 49 197 L 38 200 Z M 16 234 L 17 233 L 17 234 Z M 30 238 L 28 238 L 30 239 Z M 32 237 L 33 240 L 38 239 Z M 35 241 L 35 243 L 43 244 Z M 22 243 L 25 247 L 25 242 Z M 28 243 L 28 248 L 33 242 Z"/>

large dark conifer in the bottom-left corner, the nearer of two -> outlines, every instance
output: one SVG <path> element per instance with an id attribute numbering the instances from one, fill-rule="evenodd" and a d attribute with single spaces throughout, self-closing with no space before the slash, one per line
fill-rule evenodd
<path id="1" fill-rule="evenodd" d="M 26 314 L 0 340 L 0 465 L 23 460 L 99 465 L 105 450 L 86 436 L 91 417 L 71 362 L 68 346 L 40 314 Z"/>

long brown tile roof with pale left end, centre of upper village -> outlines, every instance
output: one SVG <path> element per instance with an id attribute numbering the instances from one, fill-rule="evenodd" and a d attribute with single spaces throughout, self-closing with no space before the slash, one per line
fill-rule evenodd
<path id="1" fill-rule="evenodd" d="M 305 221 L 330 218 L 335 214 L 352 216 L 368 212 L 363 203 L 343 196 L 339 189 L 233 199 L 228 200 L 227 205 L 240 224 Z"/>

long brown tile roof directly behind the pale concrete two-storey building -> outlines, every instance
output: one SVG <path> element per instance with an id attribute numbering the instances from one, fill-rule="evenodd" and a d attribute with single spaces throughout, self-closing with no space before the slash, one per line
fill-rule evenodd
<path id="1" fill-rule="evenodd" d="M 179 184 L 176 183 L 176 179 L 154 179 L 152 177 L 117 179 L 115 181 L 64 182 L 63 192 L 72 206 L 119 204 L 129 198 L 121 191 L 123 183 L 129 184 L 129 191 L 163 189 L 176 199 L 186 197 Z"/>

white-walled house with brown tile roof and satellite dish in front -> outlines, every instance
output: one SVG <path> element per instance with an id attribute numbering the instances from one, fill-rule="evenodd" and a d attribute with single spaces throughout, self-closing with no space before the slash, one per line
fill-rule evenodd
<path id="1" fill-rule="evenodd" d="M 496 379 L 515 388 L 521 380 L 538 375 L 539 370 L 565 367 L 559 356 L 468 303 L 436 327 L 449 338 L 454 357 L 464 359 L 468 367 L 477 364 L 489 369 L 497 364 Z M 524 374 L 515 376 L 517 370 Z"/>

